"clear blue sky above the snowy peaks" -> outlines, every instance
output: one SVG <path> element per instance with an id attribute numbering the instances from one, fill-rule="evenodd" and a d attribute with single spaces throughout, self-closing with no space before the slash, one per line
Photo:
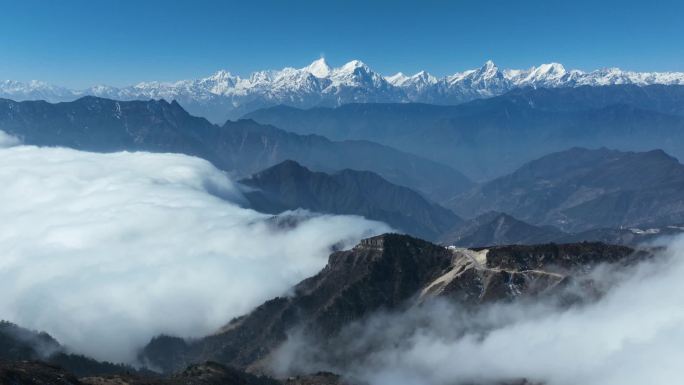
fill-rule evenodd
<path id="1" fill-rule="evenodd" d="M 0 79 L 71 87 L 361 59 L 384 74 L 684 71 L 681 1 L 0 0 Z"/>

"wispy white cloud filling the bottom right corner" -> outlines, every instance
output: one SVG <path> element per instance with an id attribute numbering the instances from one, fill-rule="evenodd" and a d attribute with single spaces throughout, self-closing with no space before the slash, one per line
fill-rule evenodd
<path id="1" fill-rule="evenodd" d="M 680 383 L 684 238 L 656 262 L 595 274 L 617 283 L 584 306 L 517 303 L 468 313 L 437 301 L 375 315 L 324 348 L 295 335 L 274 370 L 331 370 L 371 385 Z"/>

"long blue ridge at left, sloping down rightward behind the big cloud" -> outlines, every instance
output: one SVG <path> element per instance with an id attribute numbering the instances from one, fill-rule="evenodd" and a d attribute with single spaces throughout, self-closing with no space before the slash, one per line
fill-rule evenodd
<path id="1" fill-rule="evenodd" d="M 250 120 L 218 126 L 164 100 L 119 102 L 84 97 L 51 104 L 2 99 L 0 130 L 26 144 L 41 146 L 188 154 L 237 176 L 293 159 L 320 171 L 372 171 L 435 199 L 471 186 L 466 177 L 448 166 L 387 146 L 297 135 Z"/>

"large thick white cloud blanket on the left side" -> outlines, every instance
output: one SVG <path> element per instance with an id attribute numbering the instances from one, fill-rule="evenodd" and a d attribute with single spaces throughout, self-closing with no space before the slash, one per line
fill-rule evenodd
<path id="1" fill-rule="evenodd" d="M 184 155 L 0 147 L 0 319 L 98 359 L 209 333 L 315 273 L 331 245 L 388 230 L 351 216 L 279 229 Z"/>

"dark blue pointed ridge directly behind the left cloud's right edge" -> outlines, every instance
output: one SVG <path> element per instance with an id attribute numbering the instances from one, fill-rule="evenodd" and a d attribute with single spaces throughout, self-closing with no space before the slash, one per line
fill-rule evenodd
<path id="1" fill-rule="evenodd" d="M 397 230 L 434 240 L 461 219 L 419 193 L 370 171 L 314 172 L 288 160 L 240 181 L 252 208 L 266 213 L 304 208 L 361 215 Z"/>

